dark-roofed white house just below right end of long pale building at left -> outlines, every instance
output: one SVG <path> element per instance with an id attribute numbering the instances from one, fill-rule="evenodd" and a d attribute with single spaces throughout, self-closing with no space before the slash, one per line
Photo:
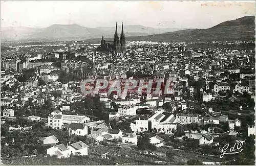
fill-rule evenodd
<path id="1" fill-rule="evenodd" d="M 69 136 L 72 134 L 80 136 L 88 135 L 88 126 L 85 124 L 71 123 L 69 124 L 68 130 Z"/>

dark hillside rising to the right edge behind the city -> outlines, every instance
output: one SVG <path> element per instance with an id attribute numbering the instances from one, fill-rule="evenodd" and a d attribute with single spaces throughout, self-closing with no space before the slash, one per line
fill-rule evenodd
<path id="1" fill-rule="evenodd" d="M 126 40 L 142 41 L 227 41 L 227 40 L 254 40 L 255 17 L 246 16 L 235 20 L 225 21 L 208 29 L 188 29 L 163 34 L 127 37 Z"/>

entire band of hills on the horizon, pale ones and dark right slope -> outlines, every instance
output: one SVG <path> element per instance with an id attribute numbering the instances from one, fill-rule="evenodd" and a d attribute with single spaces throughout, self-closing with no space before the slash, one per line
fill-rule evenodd
<path id="1" fill-rule="evenodd" d="M 227 41 L 254 40 L 255 17 L 245 16 L 229 20 L 208 29 L 155 29 L 144 26 L 124 26 L 126 41 L 162 41 L 162 42 L 196 42 L 196 41 Z M 1 40 L 87 40 L 100 42 L 113 40 L 115 27 L 86 28 L 77 24 L 52 25 L 47 28 L 6 27 L 1 28 Z M 118 26 L 121 32 L 121 26 Z"/>

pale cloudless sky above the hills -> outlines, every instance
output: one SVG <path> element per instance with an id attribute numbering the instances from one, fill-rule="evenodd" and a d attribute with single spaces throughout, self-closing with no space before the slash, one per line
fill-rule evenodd
<path id="1" fill-rule="evenodd" d="M 255 15 L 255 1 L 1 1 L 1 27 L 125 25 L 153 28 L 210 28 Z"/>

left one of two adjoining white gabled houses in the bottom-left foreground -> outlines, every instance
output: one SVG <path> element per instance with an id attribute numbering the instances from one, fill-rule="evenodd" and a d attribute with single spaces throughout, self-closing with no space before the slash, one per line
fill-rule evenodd
<path id="1" fill-rule="evenodd" d="M 57 158 L 67 158 L 71 154 L 71 150 L 64 144 L 55 145 L 46 150 L 50 156 L 56 155 Z"/>

